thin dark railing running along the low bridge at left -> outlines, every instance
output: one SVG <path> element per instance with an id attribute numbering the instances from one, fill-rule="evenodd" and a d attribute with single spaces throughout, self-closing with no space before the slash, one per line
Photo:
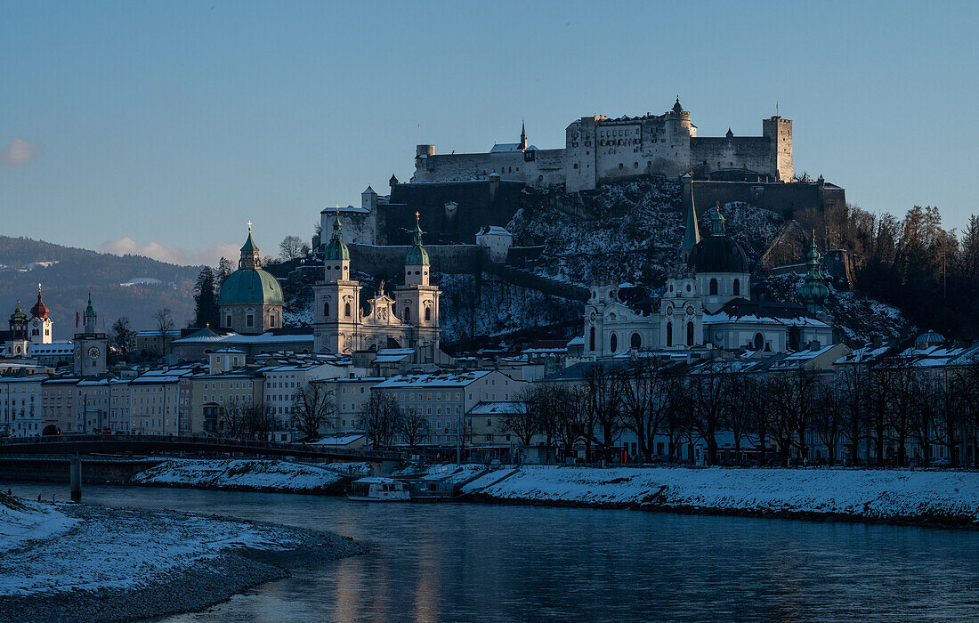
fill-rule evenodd
<path id="1" fill-rule="evenodd" d="M 29 446 L 43 444 L 82 444 L 82 443 L 142 443 L 142 444 L 189 444 L 208 447 L 219 447 L 230 452 L 236 448 L 250 450 L 270 450 L 279 452 L 295 452 L 308 455 L 351 456 L 356 458 L 398 459 L 400 454 L 390 451 L 354 450 L 350 448 L 324 447 L 316 444 L 283 444 L 279 442 L 258 441 L 255 439 L 237 439 L 231 437 L 208 437 L 204 435 L 132 435 L 114 433 L 108 435 L 90 433 L 69 433 L 66 435 L 40 435 L 36 437 L 5 437 L 0 438 L 2 446 Z"/>

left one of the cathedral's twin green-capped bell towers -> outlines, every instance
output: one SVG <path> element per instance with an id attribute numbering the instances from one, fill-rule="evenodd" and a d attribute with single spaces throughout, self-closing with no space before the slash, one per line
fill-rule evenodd
<path id="1" fill-rule="evenodd" d="M 318 353 L 351 353 L 360 348 L 360 283 L 350 279 L 350 249 L 342 229 L 338 209 L 333 237 L 323 251 L 323 280 L 314 287 L 313 337 Z"/>

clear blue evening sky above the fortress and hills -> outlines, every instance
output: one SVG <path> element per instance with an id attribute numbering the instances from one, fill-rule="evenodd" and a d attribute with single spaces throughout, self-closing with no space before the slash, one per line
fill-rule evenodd
<path id="1" fill-rule="evenodd" d="M 592 114 L 793 120 L 872 212 L 979 212 L 979 3 L 0 2 L 0 233 L 179 264 L 275 255 L 415 145 L 538 148 Z"/>

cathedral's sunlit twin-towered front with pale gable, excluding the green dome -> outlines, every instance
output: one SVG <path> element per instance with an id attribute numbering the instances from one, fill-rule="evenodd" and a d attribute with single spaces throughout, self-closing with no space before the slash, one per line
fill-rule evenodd
<path id="1" fill-rule="evenodd" d="M 384 348 L 439 349 L 438 286 L 430 283 L 429 255 L 415 215 L 414 244 L 404 259 L 404 285 L 394 297 L 384 282 L 360 307 L 360 283 L 350 278 L 350 250 L 344 242 L 339 214 L 333 237 L 324 250 L 323 280 L 314 286 L 313 336 L 319 353 L 352 353 Z"/>

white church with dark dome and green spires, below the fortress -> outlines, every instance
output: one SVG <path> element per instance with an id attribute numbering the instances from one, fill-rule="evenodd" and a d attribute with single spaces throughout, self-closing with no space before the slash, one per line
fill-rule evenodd
<path id="1" fill-rule="evenodd" d="M 710 232 L 701 238 L 691 198 L 677 265 L 658 295 L 629 284 L 591 286 L 584 307 L 585 357 L 708 348 L 783 353 L 834 342 L 815 236 L 799 287 L 805 307 L 752 300 L 748 258 L 727 235 L 720 208 L 712 211 Z"/>

